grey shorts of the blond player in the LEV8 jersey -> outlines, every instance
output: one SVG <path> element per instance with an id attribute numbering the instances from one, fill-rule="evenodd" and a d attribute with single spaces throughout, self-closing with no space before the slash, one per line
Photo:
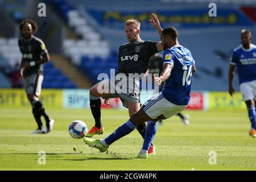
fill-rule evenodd
<path id="1" fill-rule="evenodd" d="M 120 81 L 114 77 L 111 79 L 103 80 L 100 83 L 108 87 L 104 93 L 110 93 L 110 96 L 105 98 L 119 97 L 124 107 L 127 107 L 125 102 L 140 102 L 138 79 L 135 80 L 133 78 L 127 77 L 126 81 Z"/>

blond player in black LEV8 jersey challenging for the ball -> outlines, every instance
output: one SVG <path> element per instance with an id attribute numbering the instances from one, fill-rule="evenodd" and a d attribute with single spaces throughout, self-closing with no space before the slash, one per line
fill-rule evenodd
<path id="1" fill-rule="evenodd" d="M 141 23 L 139 23 L 138 20 L 126 20 L 125 34 L 128 43 L 119 47 L 118 71 L 115 73 L 115 77 L 110 80 L 103 80 L 90 89 L 90 109 L 95 120 L 95 126 L 88 131 L 86 137 L 93 137 L 93 135 L 102 134 L 104 132 L 101 122 L 100 97 L 105 98 L 105 104 L 107 105 L 109 104 L 108 98 L 119 97 L 123 106 L 128 108 L 130 117 L 134 113 L 137 113 L 141 106 L 139 78 L 129 78 L 129 74 L 138 73 L 138 75 L 140 75 L 141 73 L 146 73 L 150 57 L 156 52 L 163 51 L 163 47 L 161 42 L 142 40 L 140 38 L 140 28 Z M 121 74 L 124 74 L 127 77 L 127 86 L 125 86 L 126 93 L 121 89 L 118 90 L 116 86 L 119 82 L 117 76 Z M 104 90 L 106 88 L 107 92 L 100 93 L 99 88 Z M 110 93 L 111 90 L 114 90 L 115 93 Z M 151 127 L 154 127 L 156 130 L 156 123 L 151 125 Z M 141 125 L 137 127 L 137 130 L 143 138 L 146 133 L 146 129 L 147 126 L 145 123 L 141 123 Z M 155 147 L 153 144 L 151 144 L 148 153 L 155 154 Z"/>

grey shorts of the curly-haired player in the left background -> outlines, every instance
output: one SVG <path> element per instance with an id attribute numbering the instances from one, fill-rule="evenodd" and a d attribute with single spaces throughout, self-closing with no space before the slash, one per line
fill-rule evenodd
<path id="1" fill-rule="evenodd" d="M 24 78 L 24 88 L 27 94 L 40 96 L 43 82 L 43 75 L 35 73 Z"/>

